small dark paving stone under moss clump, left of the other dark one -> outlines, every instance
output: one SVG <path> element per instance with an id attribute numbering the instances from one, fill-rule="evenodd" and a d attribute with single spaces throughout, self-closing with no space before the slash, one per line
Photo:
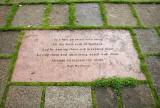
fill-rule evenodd
<path id="1" fill-rule="evenodd" d="M 118 108 L 116 94 L 112 88 L 96 88 L 98 108 Z"/>

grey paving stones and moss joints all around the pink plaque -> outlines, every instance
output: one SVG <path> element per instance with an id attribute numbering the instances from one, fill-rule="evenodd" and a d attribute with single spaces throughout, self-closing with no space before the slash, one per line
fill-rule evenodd
<path id="1" fill-rule="evenodd" d="M 13 82 L 26 30 L 79 29 L 129 32 L 146 80 Z M 0 0 L 0 108 L 92 107 L 160 108 L 160 0 Z"/>

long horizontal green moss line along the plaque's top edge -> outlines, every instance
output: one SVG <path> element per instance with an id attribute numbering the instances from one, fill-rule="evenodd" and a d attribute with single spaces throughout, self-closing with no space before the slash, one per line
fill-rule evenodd
<path id="1" fill-rule="evenodd" d="M 71 23 L 71 22 L 70 22 Z M 72 23 L 71 23 L 72 24 Z M 98 26 L 88 26 L 88 25 L 62 25 L 62 26 L 39 26 L 39 27 L 27 27 L 27 26 L 9 26 L 0 27 L 0 31 L 9 30 L 74 30 L 74 29 L 155 29 L 157 26 L 111 26 L 111 25 L 98 25 Z"/>

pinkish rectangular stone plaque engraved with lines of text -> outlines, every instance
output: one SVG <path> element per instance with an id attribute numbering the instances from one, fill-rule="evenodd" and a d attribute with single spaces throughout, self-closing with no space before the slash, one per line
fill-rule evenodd
<path id="1" fill-rule="evenodd" d="M 92 81 L 115 76 L 145 79 L 129 31 L 29 30 L 12 81 Z"/>

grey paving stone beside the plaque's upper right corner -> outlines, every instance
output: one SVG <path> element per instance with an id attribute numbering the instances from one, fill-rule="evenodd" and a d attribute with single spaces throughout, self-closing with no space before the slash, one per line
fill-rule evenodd
<path id="1" fill-rule="evenodd" d="M 138 43 L 144 53 L 160 51 L 160 36 L 154 29 L 135 29 Z"/>

